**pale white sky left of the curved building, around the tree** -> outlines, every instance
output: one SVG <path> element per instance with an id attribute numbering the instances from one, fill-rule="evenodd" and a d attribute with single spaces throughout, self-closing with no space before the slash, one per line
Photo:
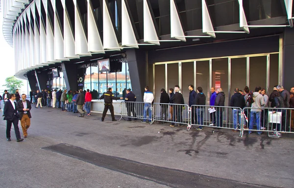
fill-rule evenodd
<path id="1" fill-rule="evenodd" d="M 2 33 L 2 13 L 0 13 L 0 94 L 6 89 L 5 78 L 13 76 L 15 74 L 15 64 L 14 64 L 14 48 L 10 47 L 5 41 Z M 19 88 L 20 93 L 27 94 L 27 80 L 22 80 L 24 86 Z"/>

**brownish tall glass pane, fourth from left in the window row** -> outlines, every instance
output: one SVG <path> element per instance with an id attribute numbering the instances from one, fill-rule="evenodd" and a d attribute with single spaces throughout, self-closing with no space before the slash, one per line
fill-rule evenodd
<path id="1" fill-rule="evenodd" d="M 203 94 L 206 96 L 206 105 L 209 105 L 210 98 L 210 83 L 209 83 L 209 61 L 197 61 L 196 62 L 196 86 L 203 89 Z"/>

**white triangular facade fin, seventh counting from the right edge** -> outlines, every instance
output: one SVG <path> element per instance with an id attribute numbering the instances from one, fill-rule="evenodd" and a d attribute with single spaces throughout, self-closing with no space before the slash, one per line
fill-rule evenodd
<path id="1" fill-rule="evenodd" d="M 103 47 L 104 49 L 121 50 L 105 0 L 103 0 Z"/>

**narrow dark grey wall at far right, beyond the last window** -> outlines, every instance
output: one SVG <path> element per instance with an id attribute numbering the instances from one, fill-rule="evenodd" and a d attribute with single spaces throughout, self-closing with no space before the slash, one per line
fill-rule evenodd
<path id="1" fill-rule="evenodd" d="M 284 64 L 284 74 L 282 85 L 288 91 L 294 87 L 292 80 L 294 72 L 294 30 L 293 28 L 285 28 L 283 37 L 283 64 Z"/>

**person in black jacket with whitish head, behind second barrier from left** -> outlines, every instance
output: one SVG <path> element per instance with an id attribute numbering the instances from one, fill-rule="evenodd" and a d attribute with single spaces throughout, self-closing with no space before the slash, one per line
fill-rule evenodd
<path id="1" fill-rule="evenodd" d="M 175 121 L 181 123 L 183 122 L 182 118 L 182 111 L 183 111 L 183 106 L 182 105 L 174 105 L 174 104 L 185 104 L 184 102 L 184 97 L 182 94 L 179 93 L 179 89 L 175 88 L 174 94 L 172 95 L 172 100 L 173 102 L 173 116 L 172 116 L 172 124 L 170 125 L 171 127 L 175 126 Z"/>

